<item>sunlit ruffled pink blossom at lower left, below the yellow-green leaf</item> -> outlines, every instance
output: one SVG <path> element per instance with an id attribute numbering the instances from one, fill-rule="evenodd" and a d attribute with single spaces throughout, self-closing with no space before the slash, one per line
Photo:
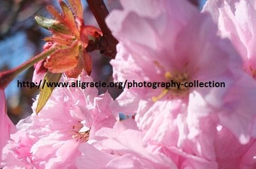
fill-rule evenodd
<path id="1" fill-rule="evenodd" d="M 61 79 L 69 83 L 76 80 L 93 81 L 89 76 Z M 114 125 L 116 116 L 108 106 L 111 102 L 109 93 L 98 96 L 96 88 L 55 88 L 38 115 L 35 101 L 33 114 L 17 124 L 18 132 L 4 149 L 5 167 L 15 166 L 19 160 L 21 166 L 34 168 L 75 168 L 78 146 L 94 139 L 101 127 Z"/>

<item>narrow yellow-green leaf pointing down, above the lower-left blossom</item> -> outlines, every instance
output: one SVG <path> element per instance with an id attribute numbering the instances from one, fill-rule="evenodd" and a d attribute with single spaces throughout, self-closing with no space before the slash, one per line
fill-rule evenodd
<path id="1" fill-rule="evenodd" d="M 40 95 L 38 99 L 38 104 L 36 108 L 36 113 L 38 114 L 39 111 L 43 108 L 43 106 L 46 105 L 47 100 L 50 98 L 52 91 L 54 91 L 55 86 L 53 87 L 47 87 L 47 83 L 52 83 L 52 82 L 59 82 L 59 79 L 61 77 L 62 73 L 51 73 L 47 72 L 45 79 L 42 81 L 42 85 L 40 88 Z"/>

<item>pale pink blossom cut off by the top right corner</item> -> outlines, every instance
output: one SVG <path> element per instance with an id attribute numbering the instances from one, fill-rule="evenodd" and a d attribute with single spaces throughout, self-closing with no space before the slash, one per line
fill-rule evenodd
<path id="1" fill-rule="evenodd" d="M 209 0 L 202 10 L 213 16 L 220 35 L 231 40 L 241 54 L 244 69 L 254 78 L 256 78 L 255 4 L 254 0 Z"/>

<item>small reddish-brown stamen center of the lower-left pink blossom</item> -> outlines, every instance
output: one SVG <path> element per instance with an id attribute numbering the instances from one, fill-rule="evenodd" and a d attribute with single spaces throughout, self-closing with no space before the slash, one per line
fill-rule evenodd
<path id="1" fill-rule="evenodd" d="M 76 141 L 82 140 L 83 142 L 87 142 L 89 140 L 91 127 L 85 127 L 82 123 L 83 121 L 77 121 L 78 124 L 72 126 L 72 138 L 76 138 Z"/>

